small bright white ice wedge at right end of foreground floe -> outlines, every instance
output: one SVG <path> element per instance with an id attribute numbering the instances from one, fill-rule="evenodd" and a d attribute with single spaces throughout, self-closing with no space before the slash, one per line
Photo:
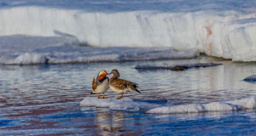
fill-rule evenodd
<path id="1" fill-rule="evenodd" d="M 231 100 L 227 101 L 226 103 L 232 104 L 232 105 L 240 105 L 247 109 L 255 109 L 256 108 L 256 96 L 252 96 L 245 99 L 237 99 L 237 100 Z"/>

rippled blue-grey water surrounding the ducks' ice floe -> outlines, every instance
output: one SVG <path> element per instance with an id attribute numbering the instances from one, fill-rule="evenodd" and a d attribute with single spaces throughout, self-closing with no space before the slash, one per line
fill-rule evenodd
<path id="1" fill-rule="evenodd" d="M 137 64 L 217 62 L 224 65 L 189 71 L 137 71 Z M 140 84 L 142 94 L 124 97 L 158 105 L 184 105 L 242 99 L 256 94 L 242 82 L 256 63 L 239 63 L 202 55 L 197 59 L 90 63 L 79 65 L 1 65 L 0 134 L 45 135 L 231 135 L 256 134 L 254 110 L 156 115 L 80 107 L 90 95 L 98 71 L 118 69 Z M 119 97 L 108 90 L 108 97 Z M 156 100 L 154 100 L 156 99 Z M 161 99 L 165 99 L 164 101 Z M 167 101 L 167 102 L 166 102 Z"/>

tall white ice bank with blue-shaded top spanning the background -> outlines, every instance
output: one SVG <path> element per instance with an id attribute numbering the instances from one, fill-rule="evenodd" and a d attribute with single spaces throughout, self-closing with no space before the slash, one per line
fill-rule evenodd
<path id="1" fill-rule="evenodd" d="M 61 31 L 94 47 L 197 48 L 255 61 L 255 7 L 255 1 L 234 0 L 3 0 L 0 36 Z"/>

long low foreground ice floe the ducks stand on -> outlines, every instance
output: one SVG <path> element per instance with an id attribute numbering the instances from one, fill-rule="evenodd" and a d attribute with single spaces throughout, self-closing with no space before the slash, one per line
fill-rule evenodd
<path id="1" fill-rule="evenodd" d="M 241 111 L 256 108 L 256 96 L 230 101 L 212 102 L 208 104 L 187 105 L 156 105 L 154 103 L 133 101 L 131 98 L 97 99 L 86 97 L 80 102 L 80 106 L 96 106 L 109 108 L 113 111 L 143 112 L 152 114 L 189 114 L 201 112 L 226 112 Z"/>

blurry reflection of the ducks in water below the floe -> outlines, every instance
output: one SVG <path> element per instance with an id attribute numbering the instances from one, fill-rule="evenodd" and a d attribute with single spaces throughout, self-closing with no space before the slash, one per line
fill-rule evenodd
<path id="1" fill-rule="evenodd" d="M 121 111 L 97 113 L 95 117 L 96 127 L 99 127 L 98 133 L 102 135 L 119 135 L 124 132 L 125 114 Z"/>

